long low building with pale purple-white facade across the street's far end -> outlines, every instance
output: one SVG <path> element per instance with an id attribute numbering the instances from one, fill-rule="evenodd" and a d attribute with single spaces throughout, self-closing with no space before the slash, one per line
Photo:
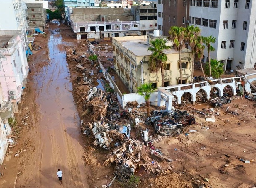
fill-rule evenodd
<path id="1" fill-rule="evenodd" d="M 136 20 L 131 9 L 124 8 L 68 7 L 67 17 L 77 40 L 146 35 L 157 27 L 157 17 Z"/>

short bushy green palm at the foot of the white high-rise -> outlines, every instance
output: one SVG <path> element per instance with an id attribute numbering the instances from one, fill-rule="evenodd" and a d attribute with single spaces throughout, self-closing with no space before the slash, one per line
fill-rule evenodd
<path id="1" fill-rule="evenodd" d="M 213 59 L 211 61 L 211 69 L 212 69 L 211 74 L 214 78 L 219 78 L 224 73 L 223 66 L 224 66 L 224 63 L 222 63 L 221 61 L 218 61 L 217 59 Z M 210 75 L 210 67 L 208 64 L 206 64 L 205 66 L 205 73 L 207 75 Z"/>

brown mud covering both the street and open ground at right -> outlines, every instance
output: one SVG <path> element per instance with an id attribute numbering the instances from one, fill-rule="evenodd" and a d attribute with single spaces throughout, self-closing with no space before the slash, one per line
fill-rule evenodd
<path id="1" fill-rule="evenodd" d="M 1 165 L 4 176 L 0 187 L 59 187 L 58 168 L 63 171 L 63 187 L 101 187 L 112 180 L 114 169 L 113 165 L 102 166 L 108 152 L 94 146 L 94 139 L 83 137 L 80 132 L 79 117 L 83 113 L 80 96 L 89 88 L 76 85 L 74 80 L 81 73 L 74 69 L 73 61 L 69 64 L 66 61 L 65 50 L 77 46 L 74 33 L 69 27 L 52 24 L 47 33 L 47 38 L 36 37 L 35 42 L 42 49 L 29 58 L 32 73 L 28 76 L 21 113 L 17 114 L 18 143 L 9 148 L 13 154 L 5 157 Z M 85 54 L 89 53 L 86 45 L 82 49 Z M 102 77 L 102 73 L 94 73 L 95 80 Z M 187 127 L 186 131 L 197 132 L 187 136 L 183 132 L 176 136 L 179 138 L 152 134 L 155 147 L 173 159 L 168 164 L 172 172 L 156 176 L 138 170 L 136 175 L 141 180 L 138 187 L 256 186 L 255 162 L 243 163 L 236 158 L 256 157 L 254 104 L 247 99 L 233 100 L 216 109 L 220 115 L 215 114 L 215 123 L 206 122 L 205 117 L 188 107 L 204 111 L 203 108 L 211 108 L 208 104 L 175 106 L 195 115 L 197 124 Z M 23 110 L 26 107 L 28 109 Z M 239 114 L 228 114 L 227 107 Z M 145 111 L 143 107 L 140 110 Z M 91 115 L 84 120 L 91 122 Z M 151 126 L 144 126 L 153 132 Z M 18 150 L 23 151 L 14 157 Z M 205 177 L 210 181 L 204 182 Z M 111 187 L 117 188 L 120 184 L 115 181 Z"/>

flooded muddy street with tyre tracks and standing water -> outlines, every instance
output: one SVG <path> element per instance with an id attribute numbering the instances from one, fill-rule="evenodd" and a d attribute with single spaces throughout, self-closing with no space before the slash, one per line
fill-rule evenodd
<path id="1" fill-rule="evenodd" d="M 57 169 L 63 172 L 62 186 L 88 187 L 83 161 L 84 144 L 79 116 L 72 96 L 72 84 L 64 50 L 65 42 L 58 31 L 51 32 L 48 50 L 35 54 L 33 66 L 44 62 L 34 73 L 34 103 L 31 118 L 34 151 L 26 163 L 16 187 L 57 187 Z M 42 57 L 46 57 L 43 60 Z M 50 57 L 48 59 L 48 57 Z"/>

